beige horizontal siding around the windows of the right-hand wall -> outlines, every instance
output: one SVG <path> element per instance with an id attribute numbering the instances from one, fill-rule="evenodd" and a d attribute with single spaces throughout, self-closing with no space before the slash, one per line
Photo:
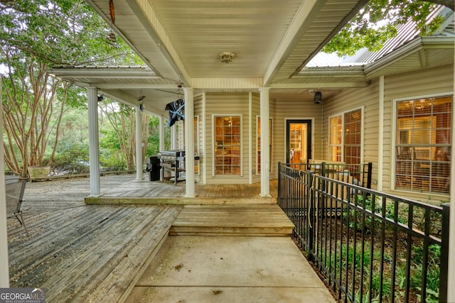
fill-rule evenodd
<path id="1" fill-rule="evenodd" d="M 395 173 L 393 153 L 393 104 L 395 99 L 429 96 L 433 94 L 453 94 L 453 65 L 407 72 L 387 76 L 384 79 L 384 121 L 382 172 L 378 172 L 379 149 L 379 80 L 373 79 L 365 88 L 343 89 L 335 97 L 324 100 L 323 108 L 323 159 L 328 158 L 328 119 L 330 116 L 363 107 L 363 162 L 373 163 L 372 188 L 377 189 L 378 174 L 382 173 L 382 191 L 400 197 L 432 202 L 449 199 L 448 195 L 406 192 L 392 189 L 392 175 Z M 317 142 L 316 142 L 317 145 Z"/>

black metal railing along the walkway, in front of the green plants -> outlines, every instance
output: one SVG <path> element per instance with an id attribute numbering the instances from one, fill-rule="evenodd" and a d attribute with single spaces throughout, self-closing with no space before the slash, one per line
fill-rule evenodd
<path id="1" fill-rule="evenodd" d="M 279 163 L 293 236 L 343 302 L 446 302 L 449 204 L 434 206 Z"/>

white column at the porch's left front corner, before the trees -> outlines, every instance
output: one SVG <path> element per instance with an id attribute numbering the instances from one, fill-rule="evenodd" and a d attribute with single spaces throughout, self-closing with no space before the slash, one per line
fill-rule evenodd
<path id="1" fill-rule="evenodd" d="M 87 87 L 88 97 L 88 142 L 90 157 L 90 196 L 99 196 L 100 191 L 100 139 L 98 136 L 98 90 Z"/>

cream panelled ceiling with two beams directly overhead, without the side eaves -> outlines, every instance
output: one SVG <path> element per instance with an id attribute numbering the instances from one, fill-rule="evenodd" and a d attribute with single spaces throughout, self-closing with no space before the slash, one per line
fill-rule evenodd
<path id="1" fill-rule="evenodd" d="M 87 1 L 112 24 L 109 1 Z M 114 1 L 114 30 L 165 79 L 287 79 L 367 0 Z M 230 64 L 219 54 L 235 53 Z"/>

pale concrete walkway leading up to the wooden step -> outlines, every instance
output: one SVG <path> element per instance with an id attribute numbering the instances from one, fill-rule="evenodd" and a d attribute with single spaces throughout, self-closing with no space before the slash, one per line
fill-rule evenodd
<path id="1" fill-rule="evenodd" d="M 127 302 L 335 302 L 291 238 L 169 236 Z"/>

